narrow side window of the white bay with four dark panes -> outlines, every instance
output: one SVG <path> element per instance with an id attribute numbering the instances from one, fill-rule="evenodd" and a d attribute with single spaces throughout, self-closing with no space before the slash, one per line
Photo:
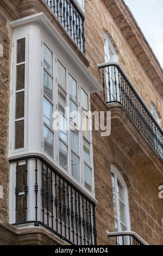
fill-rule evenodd
<path id="1" fill-rule="evenodd" d="M 11 106 L 14 136 L 10 147 L 18 152 L 27 148 L 28 36 L 18 37 L 14 45 L 16 51 L 12 63 L 14 86 Z"/>

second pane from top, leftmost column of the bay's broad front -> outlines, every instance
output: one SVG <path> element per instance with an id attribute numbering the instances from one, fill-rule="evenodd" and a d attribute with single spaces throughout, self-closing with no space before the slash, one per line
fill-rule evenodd
<path id="1" fill-rule="evenodd" d="M 43 90 L 49 99 L 53 100 L 53 79 L 45 69 L 43 70 Z"/>

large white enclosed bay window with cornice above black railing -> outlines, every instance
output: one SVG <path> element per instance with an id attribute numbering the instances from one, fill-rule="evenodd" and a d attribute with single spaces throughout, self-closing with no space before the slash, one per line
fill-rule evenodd
<path id="1" fill-rule="evenodd" d="M 9 160 L 42 157 L 95 200 L 89 111 L 90 93 L 101 86 L 44 14 L 32 15 L 31 21 L 11 22 Z M 59 113 L 59 130 L 53 125 L 55 112 Z"/>

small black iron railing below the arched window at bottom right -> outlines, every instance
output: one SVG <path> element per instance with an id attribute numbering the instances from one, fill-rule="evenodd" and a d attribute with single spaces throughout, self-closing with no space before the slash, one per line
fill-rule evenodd
<path id="1" fill-rule="evenodd" d="M 114 237 L 114 245 L 148 245 L 133 231 L 108 232 L 108 237 Z"/>

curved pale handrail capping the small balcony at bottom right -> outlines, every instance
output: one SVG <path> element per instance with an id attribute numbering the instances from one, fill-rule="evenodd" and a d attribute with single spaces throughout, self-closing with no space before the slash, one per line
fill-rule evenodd
<path id="1" fill-rule="evenodd" d="M 140 235 L 135 233 L 134 231 L 116 231 L 116 232 L 107 232 L 109 237 L 121 237 L 121 236 L 129 236 L 133 237 L 133 245 L 148 245 L 148 243 L 142 239 Z M 117 241 L 117 240 L 116 240 Z M 130 240 L 131 245 L 131 240 Z"/>

